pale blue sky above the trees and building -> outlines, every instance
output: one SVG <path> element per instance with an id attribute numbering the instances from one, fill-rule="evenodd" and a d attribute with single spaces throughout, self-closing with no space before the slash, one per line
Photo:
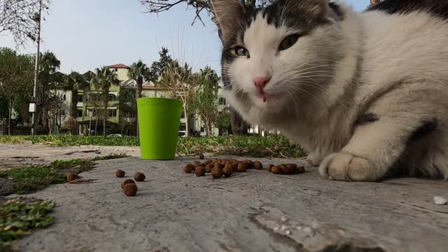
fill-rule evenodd
<path id="1" fill-rule="evenodd" d="M 357 10 L 369 2 L 345 1 Z M 55 52 L 64 73 L 83 73 L 118 63 L 129 65 L 139 58 L 150 65 L 158 60 L 162 45 L 173 57 L 192 64 L 193 69 L 209 65 L 221 72 L 221 41 L 216 25 L 205 12 L 202 17 L 206 26 L 196 22 L 192 27 L 194 12 L 186 6 L 158 15 L 144 10 L 137 0 L 53 0 L 50 15 L 42 23 L 41 50 Z M 14 47 L 11 36 L 1 35 L 0 46 Z M 28 45 L 22 52 L 35 53 L 35 45 Z"/>

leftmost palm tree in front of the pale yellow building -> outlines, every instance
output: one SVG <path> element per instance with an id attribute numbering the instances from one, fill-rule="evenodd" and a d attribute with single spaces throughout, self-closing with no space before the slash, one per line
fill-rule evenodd
<path id="1" fill-rule="evenodd" d="M 79 102 L 79 90 L 86 90 L 90 86 L 89 81 L 77 71 L 71 71 L 71 73 L 64 78 L 64 90 L 71 91 L 71 108 L 70 116 L 76 121 L 78 118 L 78 102 Z M 76 123 L 71 123 L 71 125 L 76 126 Z M 72 134 L 77 134 L 76 127 L 71 128 Z"/>

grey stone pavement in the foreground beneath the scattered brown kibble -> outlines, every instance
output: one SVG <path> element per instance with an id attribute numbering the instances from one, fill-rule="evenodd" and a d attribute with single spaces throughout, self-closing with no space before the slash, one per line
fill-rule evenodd
<path id="1" fill-rule="evenodd" d="M 241 158 L 235 158 L 241 159 Z M 87 184 L 27 195 L 57 202 L 55 224 L 20 240 L 21 251 L 446 251 L 447 181 L 346 183 L 248 170 L 228 179 L 184 174 L 195 158 L 100 161 Z M 255 159 L 252 159 L 255 160 Z M 290 162 L 259 159 L 263 165 Z M 297 163 L 302 162 L 297 160 Z M 127 197 L 116 169 L 144 172 Z M 11 195 L 10 197 L 14 197 Z M 162 249 L 164 248 L 164 249 Z"/>

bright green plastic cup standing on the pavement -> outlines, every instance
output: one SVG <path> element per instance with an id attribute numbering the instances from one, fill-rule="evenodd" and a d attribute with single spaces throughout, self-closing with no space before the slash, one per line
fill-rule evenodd
<path id="1" fill-rule="evenodd" d="M 142 159 L 174 160 L 182 109 L 178 99 L 137 99 Z"/>

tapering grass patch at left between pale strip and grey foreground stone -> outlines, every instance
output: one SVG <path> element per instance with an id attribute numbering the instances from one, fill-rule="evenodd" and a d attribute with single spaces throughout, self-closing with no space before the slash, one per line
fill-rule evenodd
<path id="1" fill-rule="evenodd" d="M 14 186 L 10 188 L 10 192 L 22 195 L 34 190 L 41 190 L 50 185 L 65 183 L 67 173 L 80 174 L 81 172 L 87 172 L 94 167 L 94 162 L 97 160 L 125 157 L 127 157 L 127 155 L 112 154 L 87 160 L 56 160 L 49 165 L 34 165 L 0 171 L 0 178 L 10 178 L 14 183 Z"/>

